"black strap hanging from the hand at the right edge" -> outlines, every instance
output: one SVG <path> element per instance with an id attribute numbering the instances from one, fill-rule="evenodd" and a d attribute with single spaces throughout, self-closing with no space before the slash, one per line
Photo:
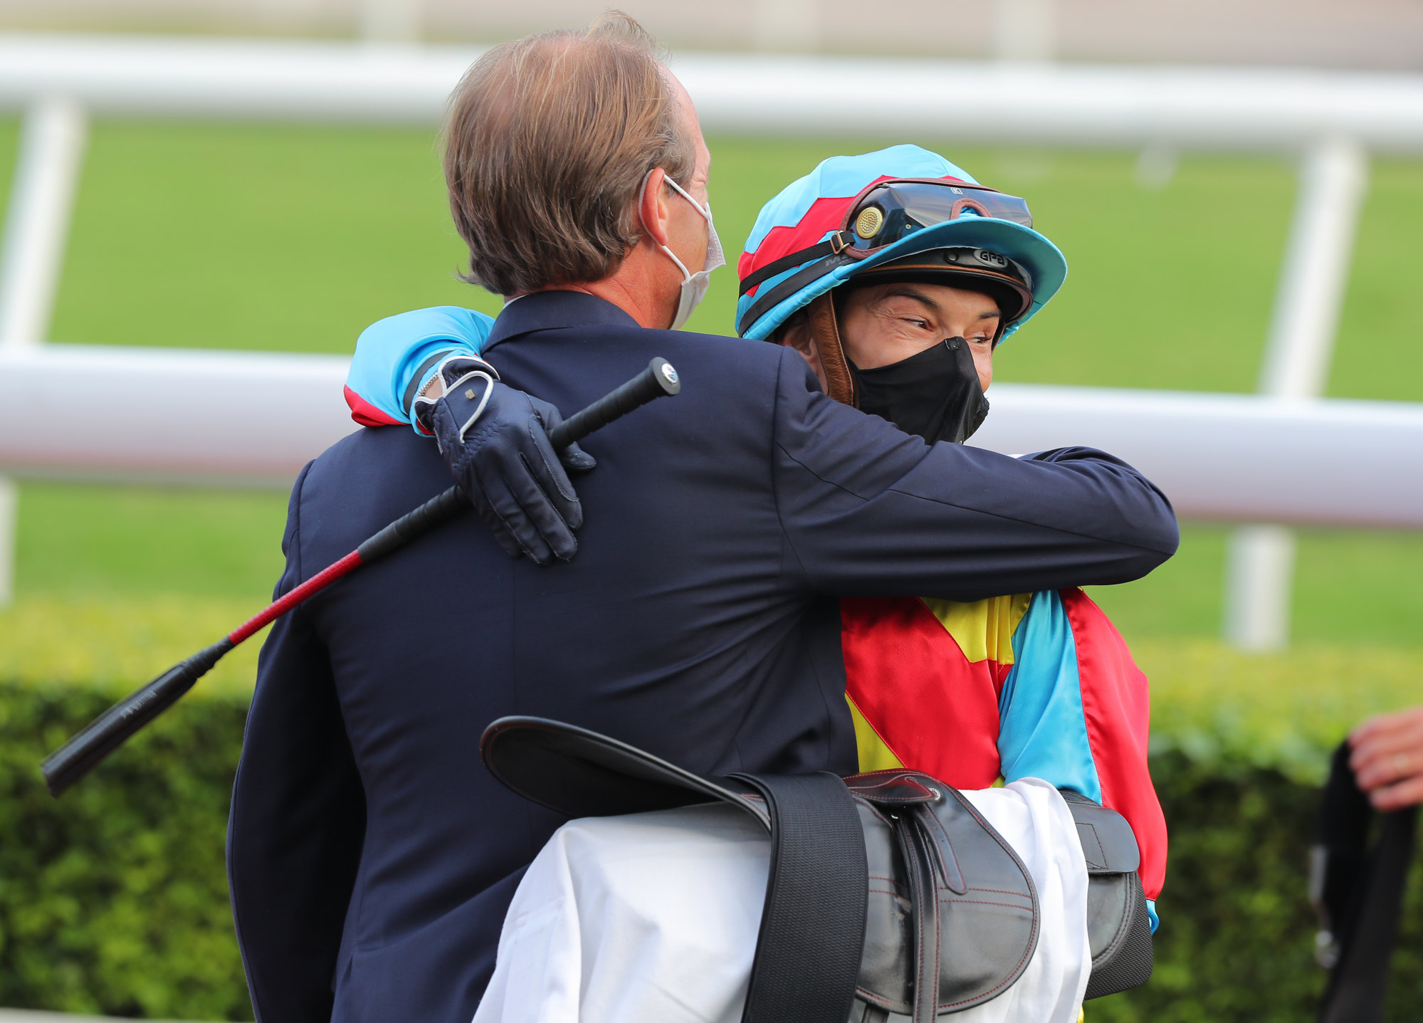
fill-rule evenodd
<path id="1" fill-rule="evenodd" d="M 1319 1003 L 1319 1023 L 1382 1023 L 1389 962 L 1413 862 L 1417 807 L 1383 814 L 1377 845 L 1368 855 L 1363 834 L 1372 817 L 1368 797 L 1349 768 L 1349 744 L 1333 757 L 1321 817 L 1329 903 L 1339 960 Z"/>

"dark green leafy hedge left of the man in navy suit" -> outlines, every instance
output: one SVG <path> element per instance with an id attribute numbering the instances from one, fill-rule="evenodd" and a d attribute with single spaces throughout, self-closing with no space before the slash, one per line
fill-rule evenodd
<path id="1" fill-rule="evenodd" d="M 112 696 L 0 686 L 0 1005 L 250 1020 L 223 871 L 246 699 L 184 701 L 53 800 L 40 758 Z"/>

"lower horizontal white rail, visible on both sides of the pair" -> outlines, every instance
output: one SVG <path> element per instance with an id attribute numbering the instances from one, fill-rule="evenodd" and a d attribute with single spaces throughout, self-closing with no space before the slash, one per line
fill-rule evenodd
<path id="1" fill-rule="evenodd" d="M 0 465 L 27 477 L 285 489 L 356 428 L 342 401 L 346 367 L 339 356 L 104 344 L 0 354 Z M 112 410 L 114 396 L 121 414 L 98 424 L 77 414 Z M 1417 462 L 1419 404 L 1036 384 L 995 384 L 992 400 L 975 444 L 1104 448 L 1190 518 L 1423 529 L 1423 472 L 1377 471 Z"/>

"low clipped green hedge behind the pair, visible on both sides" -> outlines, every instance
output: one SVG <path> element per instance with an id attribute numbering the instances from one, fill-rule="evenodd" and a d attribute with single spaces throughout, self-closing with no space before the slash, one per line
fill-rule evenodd
<path id="1" fill-rule="evenodd" d="M 1323 979 L 1305 903 L 1316 785 L 1348 723 L 1423 696 L 1423 654 L 1249 659 L 1146 643 L 1138 657 L 1154 679 L 1153 773 L 1171 828 L 1157 973 L 1089 1019 L 1308 1020 Z M 199 690 L 51 800 L 38 760 L 121 689 L 114 677 L 0 686 L 0 1005 L 250 1019 L 222 862 L 246 696 Z M 1390 1005 L 1396 1020 L 1423 1005 L 1423 876 Z"/>

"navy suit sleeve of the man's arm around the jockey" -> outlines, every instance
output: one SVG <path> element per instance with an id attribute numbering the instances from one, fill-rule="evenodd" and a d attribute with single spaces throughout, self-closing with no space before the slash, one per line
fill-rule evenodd
<path id="1" fill-rule="evenodd" d="M 1130 582 L 1180 542 L 1161 491 L 1106 452 L 1012 458 L 925 444 L 828 398 L 790 349 L 776 400 L 787 573 L 811 589 L 978 600 Z M 871 548 L 875 556 L 864 556 Z"/>

